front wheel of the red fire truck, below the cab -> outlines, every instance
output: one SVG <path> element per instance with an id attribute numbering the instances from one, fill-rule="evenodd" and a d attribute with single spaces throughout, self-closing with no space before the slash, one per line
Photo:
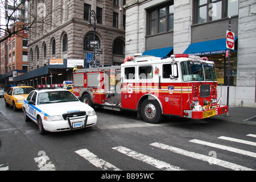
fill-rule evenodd
<path id="1" fill-rule="evenodd" d="M 148 123 L 159 123 L 163 119 L 160 106 L 156 100 L 144 100 L 141 107 L 141 115 Z"/>

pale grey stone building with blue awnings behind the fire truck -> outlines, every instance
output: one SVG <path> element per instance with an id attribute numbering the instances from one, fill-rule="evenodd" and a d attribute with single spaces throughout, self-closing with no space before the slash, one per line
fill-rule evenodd
<path id="1" fill-rule="evenodd" d="M 229 105 L 256 107 L 255 1 L 129 0 L 125 9 L 126 56 L 160 52 L 160 57 L 209 57 L 216 64 L 221 104 L 227 101 L 225 38 L 230 19 L 236 38 L 230 55 Z"/>

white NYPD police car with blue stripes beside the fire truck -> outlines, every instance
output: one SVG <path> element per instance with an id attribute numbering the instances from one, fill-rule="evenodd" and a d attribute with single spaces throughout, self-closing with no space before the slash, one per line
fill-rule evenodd
<path id="1" fill-rule="evenodd" d="M 38 124 L 40 134 L 96 125 L 97 115 L 92 107 L 80 102 L 69 90 L 55 86 L 38 85 L 28 94 L 23 101 L 26 122 L 31 119 Z"/>

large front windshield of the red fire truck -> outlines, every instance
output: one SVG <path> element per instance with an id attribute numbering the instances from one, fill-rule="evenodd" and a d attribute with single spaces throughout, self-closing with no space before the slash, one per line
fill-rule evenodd
<path id="1" fill-rule="evenodd" d="M 183 81 L 217 81 L 214 64 L 183 61 L 181 72 Z"/>

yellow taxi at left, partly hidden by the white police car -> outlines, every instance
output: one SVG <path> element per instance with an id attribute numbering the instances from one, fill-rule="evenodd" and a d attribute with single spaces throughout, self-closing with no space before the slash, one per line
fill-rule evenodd
<path id="1" fill-rule="evenodd" d="M 27 98 L 28 94 L 35 90 L 32 86 L 12 86 L 5 93 L 5 106 L 13 106 L 13 110 L 22 109 L 23 100 Z"/>

